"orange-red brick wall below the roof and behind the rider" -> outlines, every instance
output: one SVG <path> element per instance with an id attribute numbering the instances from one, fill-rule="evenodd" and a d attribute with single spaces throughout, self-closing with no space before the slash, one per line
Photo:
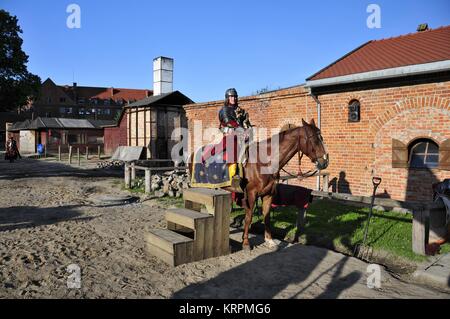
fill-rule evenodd
<path id="1" fill-rule="evenodd" d="M 361 103 L 361 121 L 348 122 L 348 103 Z M 431 183 L 450 178 L 450 171 L 392 168 L 392 139 L 409 144 L 427 137 L 439 144 L 450 139 L 450 82 L 418 84 L 344 93 L 323 94 L 321 102 L 322 135 L 330 154 L 329 191 L 371 195 L 374 175 L 383 182 L 380 194 L 397 200 L 429 200 Z M 243 97 L 240 106 L 257 127 L 281 128 L 314 118 L 317 106 L 303 86 Z M 218 127 L 218 111 L 223 101 L 185 106 L 192 137 L 194 120 L 203 128 Z M 208 142 L 205 138 L 204 143 Z M 312 168 L 303 159 L 302 170 Z M 297 170 L 294 157 L 286 169 Z M 302 182 L 315 188 L 315 178 Z"/>

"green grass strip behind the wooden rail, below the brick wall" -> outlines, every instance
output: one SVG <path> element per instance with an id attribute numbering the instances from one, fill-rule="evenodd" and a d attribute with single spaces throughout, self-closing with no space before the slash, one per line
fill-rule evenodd
<path id="1" fill-rule="evenodd" d="M 299 241 L 351 254 L 355 245 L 362 243 L 368 213 L 369 208 L 344 205 L 326 199 L 314 201 L 307 210 L 305 229 Z M 243 209 L 233 209 L 232 218 L 242 218 L 243 215 Z M 272 209 L 271 225 L 274 235 L 284 239 L 294 238 L 297 231 L 296 220 L 295 208 Z M 261 215 L 253 216 L 253 223 L 261 225 L 262 222 Z M 372 246 L 375 251 L 388 252 L 410 261 L 427 260 L 427 257 L 412 251 L 411 234 L 410 214 L 374 211 L 366 244 Z M 450 244 L 441 246 L 442 253 L 449 251 Z"/>

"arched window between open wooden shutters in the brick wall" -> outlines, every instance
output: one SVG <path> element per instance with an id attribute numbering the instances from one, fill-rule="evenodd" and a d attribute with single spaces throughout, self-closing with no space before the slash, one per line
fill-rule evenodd
<path id="1" fill-rule="evenodd" d="M 435 168 L 439 165 L 439 146 L 429 139 L 414 141 L 408 149 L 409 167 Z"/>

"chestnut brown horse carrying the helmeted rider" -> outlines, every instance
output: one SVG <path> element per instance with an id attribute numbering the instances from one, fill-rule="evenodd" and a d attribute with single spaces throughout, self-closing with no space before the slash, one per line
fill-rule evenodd
<path id="1" fill-rule="evenodd" d="M 285 131 L 281 131 L 278 135 L 279 149 L 278 151 L 278 166 L 275 172 L 267 172 L 269 167 L 273 165 L 273 156 L 271 150 L 271 138 L 256 143 L 257 159 L 256 161 L 247 161 L 244 165 L 244 179 L 246 185 L 244 187 L 244 199 L 242 207 L 245 209 L 245 224 L 244 233 L 242 236 L 242 248 L 250 250 L 250 243 L 248 240 L 248 231 L 252 221 L 253 210 L 258 198 L 262 198 L 262 213 L 264 217 L 264 238 L 269 246 L 275 246 L 272 239 L 272 232 L 270 229 L 270 208 L 272 200 L 276 195 L 276 185 L 280 178 L 280 170 L 298 153 L 299 155 L 299 170 L 301 166 L 301 158 L 306 155 L 312 163 L 315 164 L 317 170 L 322 170 L 328 167 L 328 153 L 323 142 L 323 138 L 319 128 L 316 126 L 314 119 L 308 124 L 302 119 L 302 126 L 294 127 Z M 267 163 L 260 158 L 259 150 L 264 147 L 270 154 L 271 160 Z M 301 154 L 300 154 L 301 153 Z M 190 158 L 193 159 L 194 153 L 191 153 Z M 274 160 L 276 161 L 276 160 Z M 188 161 L 188 170 L 190 175 L 193 173 L 193 160 Z M 301 172 L 301 170 L 300 170 Z M 300 173 L 299 173 L 300 174 Z M 192 175 L 191 175 L 192 176 Z M 303 175 L 306 176 L 306 175 Z M 301 177 L 301 175 L 299 175 Z M 230 187 L 223 187 L 222 189 L 232 191 Z"/>

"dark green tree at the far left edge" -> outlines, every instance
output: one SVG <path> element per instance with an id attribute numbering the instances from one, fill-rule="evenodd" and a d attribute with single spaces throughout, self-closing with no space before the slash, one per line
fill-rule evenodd
<path id="1" fill-rule="evenodd" d="M 37 97 L 41 79 L 27 70 L 17 17 L 0 10 L 0 111 L 17 109 Z"/>

